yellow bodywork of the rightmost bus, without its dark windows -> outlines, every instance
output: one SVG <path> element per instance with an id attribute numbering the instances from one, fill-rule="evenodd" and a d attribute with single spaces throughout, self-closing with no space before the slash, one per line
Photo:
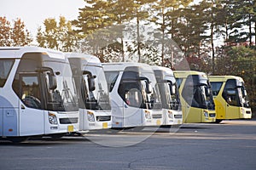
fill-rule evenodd
<path id="1" fill-rule="evenodd" d="M 236 77 L 236 76 L 211 76 L 209 77 L 210 82 L 212 83 L 212 86 L 216 87 L 214 88 L 215 92 L 214 94 L 214 103 L 216 105 L 216 112 L 217 116 L 216 119 L 218 120 L 225 120 L 225 119 L 250 119 L 252 118 L 252 110 L 249 107 L 241 106 L 239 105 L 232 105 L 228 103 L 226 99 L 224 99 L 224 92 L 226 89 L 226 84 L 228 81 L 236 81 L 236 83 L 241 83 L 242 87 L 244 86 L 243 83 L 244 81 L 242 80 L 241 77 Z M 215 86 L 215 84 L 219 84 Z M 239 87 L 240 88 L 240 87 Z M 234 88 L 235 89 L 235 88 Z M 243 89 L 245 90 L 245 88 Z M 237 88 L 236 88 L 236 95 L 241 95 L 238 93 Z M 243 98 L 242 96 L 238 96 L 239 100 L 241 102 L 241 99 Z M 245 100 L 245 102 L 247 102 Z"/>

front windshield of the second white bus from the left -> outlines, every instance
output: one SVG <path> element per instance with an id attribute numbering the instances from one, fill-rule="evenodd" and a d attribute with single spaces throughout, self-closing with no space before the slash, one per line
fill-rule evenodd
<path id="1" fill-rule="evenodd" d="M 84 74 L 82 80 L 82 89 L 84 89 L 82 97 L 85 108 L 98 111 L 111 110 L 108 84 L 102 67 L 86 65 L 86 70 L 88 74 Z M 95 81 L 95 89 L 90 89 L 91 79 Z"/>

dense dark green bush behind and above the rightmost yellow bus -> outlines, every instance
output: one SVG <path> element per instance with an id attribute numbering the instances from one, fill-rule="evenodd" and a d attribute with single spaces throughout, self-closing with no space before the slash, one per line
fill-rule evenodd
<path id="1" fill-rule="evenodd" d="M 225 48 L 217 60 L 216 75 L 242 77 L 247 87 L 249 100 L 256 109 L 256 50 L 245 46 Z"/>

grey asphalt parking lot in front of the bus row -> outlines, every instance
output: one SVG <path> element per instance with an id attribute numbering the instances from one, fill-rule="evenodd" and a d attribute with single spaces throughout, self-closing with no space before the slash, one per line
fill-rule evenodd
<path id="1" fill-rule="evenodd" d="M 0 142 L 1 169 L 255 169 L 256 120 Z"/>

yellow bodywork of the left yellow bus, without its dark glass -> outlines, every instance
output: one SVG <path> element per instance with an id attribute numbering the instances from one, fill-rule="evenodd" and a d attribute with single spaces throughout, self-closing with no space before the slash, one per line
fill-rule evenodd
<path id="1" fill-rule="evenodd" d="M 208 80 L 207 76 L 205 73 L 200 72 L 200 71 L 173 71 L 174 75 L 177 79 L 177 82 L 179 83 L 179 93 L 181 96 L 181 103 L 182 103 L 182 111 L 183 111 L 183 122 L 185 123 L 194 123 L 194 122 L 215 122 L 216 120 L 216 114 L 215 114 L 215 106 L 213 103 L 213 99 L 210 99 L 210 109 L 203 109 L 201 107 L 196 107 L 196 106 L 191 106 L 191 104 L 193 104 L 193 100 L 196 98 L 195 92 L 192 91 L 193 95 L 192 96 L 187 96 L 188 101 L 186 101 L 184 99 L 183 96 L 183 90 L 187 90 L 189 89 L 189 87 L 186 87 L 186 83 L 190 83 L 191 87 L 197 86 L 196 82 L 189 82 L 190 80 L 188 79 L 188 77 L 190 76 L 196 76 L 196 77 L 200 77 L 205 79 L 205 81 Z M 200 84 L 198 84 L 200 85 Z M 207 85 L 207 87 L 209 88 L 209 85 Z M 191 93 L 191 90 L 189 89 L 189 92 Z M 203 94 L 201 94 L 203 95 Z M 210 98 L 212 97 L 212 94 L 210 94 Z M 193 99 L 192 99 L 193 98 Z M 212 101 L 211 101 L 212 100 Z M 213 106 L 213 108 L 211 108 Z M 208 107 L 208 106 L 207 106 Z"/>

